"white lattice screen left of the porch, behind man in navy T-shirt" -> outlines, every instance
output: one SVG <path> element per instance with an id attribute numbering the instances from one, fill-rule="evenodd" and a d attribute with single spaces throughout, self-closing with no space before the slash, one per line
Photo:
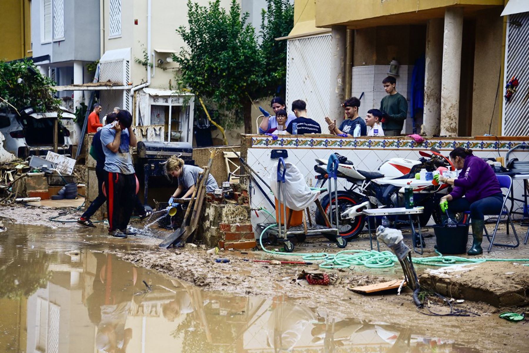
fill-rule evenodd
<path id="1" fill-rule="evenodd" d="M 331 71 L 331 34 L 290 39 L 287 43 L 288 110 L 296 99 L 307 102 L 308 117 L 327 126 Z"/>

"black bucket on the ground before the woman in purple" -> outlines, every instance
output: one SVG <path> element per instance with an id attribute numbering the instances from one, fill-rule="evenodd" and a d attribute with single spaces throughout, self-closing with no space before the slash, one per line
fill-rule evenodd
<path id="1" fill-rule="evenodd" d="M 445 255 L 467 252 L 468 224 L 446 223 L 433 226 L 437 251 Z"/>

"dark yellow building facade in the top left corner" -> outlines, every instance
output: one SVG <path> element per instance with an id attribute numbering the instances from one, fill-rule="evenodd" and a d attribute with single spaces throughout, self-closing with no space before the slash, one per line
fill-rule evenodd
<path id="1" fill-rule="evenodd" d="M 30 8 L 31 0 L 2 0 L 0 60 L 32 56 Z"/>

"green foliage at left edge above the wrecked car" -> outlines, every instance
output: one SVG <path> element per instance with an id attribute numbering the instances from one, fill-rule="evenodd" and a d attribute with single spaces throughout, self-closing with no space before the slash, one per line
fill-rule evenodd
<path id="1" fill-rule="evenodd" d="M 42 76 L 33 61 L 0 61 L 0 107 L 17 110 L 31 106 L 37 112 L 56 111 L 60 114 L 60 99 L 54 97 L 56 90 L 52 79 Z"/>

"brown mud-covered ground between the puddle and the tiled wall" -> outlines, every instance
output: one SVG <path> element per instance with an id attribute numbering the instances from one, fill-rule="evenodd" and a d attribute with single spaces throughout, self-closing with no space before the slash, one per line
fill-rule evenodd
<path id="1" fill-rule="evenodd" d="M 61 210 L 35 209 L 27 206 L 13 206 L 0 208 L 0 215 L 12 219 L 16 223 L 43 225 L 47 227 L 67 227 L 79 229 L 76 223 L 51 222 L 49 217 L 55 216 Z M 67 214 L 60 220 L 75 220 L 77 214 Z M 141 227 L 140 227 L 141 228 Z M 526 228 L 519 230 L 519 236 L 525 235 Z M 106 228 L 98 224 L 94 234 L 106 236 Z M 409 236 L 405 234 L 409 243 Z M 427 251 L 425 256 L 435 255 L 432 251 L 434 238 L 426 238 Z M 496 308 L 480 302 L 466 300 L 454 303 L 454 309 L 463 309 L 477 315 L 470 316 L 431 316 L 428 308 L 419 312 L 412 301 L 411 292 L 403 289 L 400 295 L 396 291 L 360 295 L 348 288 L 384 282 L 389 279 L 402 278 L 403 272 L 398 264 L 395 267 L 382 269 L 368 269 L 354 266 L 347 269 L 325 270 L 331 275 L 333 284 L 329 286 L 308 285 L 305 280 L 297 280 L 302 270 L 318 270 L 313 265 L 270 265 L 254 262 L 254 260 L 296 260 L 299 257 L 271 256 L 263 251 L 223 251 L 218 255 L 208 255 L 206 249 L 160 249 L 152 246 L 158 239 L 150 237 L 133 237 L 123 240 L 133 241 L 134 249 L 121 250 L 118 248 L 106 250 L 121 257 L 136 266 L 154 269 L 171 277 L 186 280 L 205 290 L 221 290 L 236 295 L 277 296 L 285 295 L 308 307 L 325 308 L 336 315 L 351 316 L 367 321 L 386 322 L 400 327 L 421 327 L 425 334 L 431 337 L 453 339 L 461 345 L 487 352 L 525 352 L 529 344 L 529 324 L 510 323 L 499 319 L 498 314 L 503 311 L 524 312 L 527 307 Z M 485 241 L 486 242 L 486 241 Z M 138 247 L 144 243 L 144 249 Z M 197 242 L 199 245 L 199 242 Z M 269 246 L 279 248 L 279 246 Z M 498 256 L 509 258 L 527 257 L 528 246 L 520 245 L 518 250 L 498 249 Z M 369 249 L 369 239 L 362 236 L 358 241 L 350 243 L 347 249 Z M 325 239 L 309 238 L 307 243 L 296 248 L 303 252 L 338 252 L 334 243 Z M 505 251 L 510 251 L 505 253 Z M 496 256 L 494 252 L 487 256 Z M 506 255 L 507 254 L 507 255 Z M 511 256 L 508 256 L 511 255 Z M 417 256 L 417 255 L 413 255 Z M 228 258 L 229 263 L 216 263 L 216 258 Z M 416 266 L 420 275 L 425 267 Z M 529 290 L 529 288 L 527 288 Z M 440 306 L 435 300 L 430 300 L 429 309 L 436 313 L 448 313 L 448 306 Z M 471 350 L 464 350 L 471 351 Z"/>

